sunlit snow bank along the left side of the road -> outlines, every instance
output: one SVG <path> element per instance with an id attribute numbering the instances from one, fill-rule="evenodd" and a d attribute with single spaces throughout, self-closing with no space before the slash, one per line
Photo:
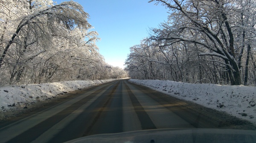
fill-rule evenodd
<path id="1" fill-rule="evenodd" d="M 55 98 L 57 95 L 114 81 L 62 81 L 44 84 L 10 85 L 0 87 L 0 113 L 11 109 L 27 108 L 29 104 Z"/>

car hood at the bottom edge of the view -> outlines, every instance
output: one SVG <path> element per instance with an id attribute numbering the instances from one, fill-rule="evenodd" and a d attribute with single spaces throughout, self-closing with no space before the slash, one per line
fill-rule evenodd
<path id="1" fill-rule="evenodd" d="M 66 143 L 256 143 L 256 131 L 240 129 L 151 129 L 90 135 Z"/>

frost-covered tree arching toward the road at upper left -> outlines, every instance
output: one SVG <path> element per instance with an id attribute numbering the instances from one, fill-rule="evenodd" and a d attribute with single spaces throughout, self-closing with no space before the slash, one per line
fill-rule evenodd
<path id="1" fill-rule="evenodd" d="M 11 3 L 9 3 L 11 2 Z M 12 0 L 2 1 L 2 8 L 6 11 L 5 14 L 9 14 L 9 17 L 15 15 L 15 19 L 8 20 L 2 19 L 3 23 L 11 22 L 14 25 L 13 31 L 3 33 L 6 40 L 2 42 L 3 51 L 0 57 L 0 67 L 3 65 L 3 60 L 8 54 L 9 48 L 18 40 L 21 40 L 23 46 L 26 44 L 32 44 L 39 42 L 38 39 L 44 38 L 50 39 L 52 33 L 58 33 L 63 31 L 61 28 L 70 30 L 74 27 L 90 28 L 90 24 L 87 22 L 88 14 L 83 11 L 81 5 L 76 2 L 69 1 L 63 2 L 58 5 L 53 5 L 52 0 L 29 0 L 19 1 L 15 3 Z M 15 6 L 13 11 L 9 6 Z M 46 27 L 47 25 L 47 27 Z M 55 29 L 56 25 L 61 26 Z M 33 33 L 35 41 L 28 42 L 28 34 Z M 21 45 L 21 43 L 18 43 Z M 24 45 L 25 44 L 25 45 Z M 25 47 L 26 48 L 26 47 Z"/>

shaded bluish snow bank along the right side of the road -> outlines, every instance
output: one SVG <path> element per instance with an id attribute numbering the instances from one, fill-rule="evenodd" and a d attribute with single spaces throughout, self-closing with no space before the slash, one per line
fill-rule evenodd
<path id="1" fill-rule="evenodd" d="M 159 80 L 130 79 L 129 81 L 146 85 L 176 98 L 227 112 L 256 124 L 256 87 L 189 84 Z"/>

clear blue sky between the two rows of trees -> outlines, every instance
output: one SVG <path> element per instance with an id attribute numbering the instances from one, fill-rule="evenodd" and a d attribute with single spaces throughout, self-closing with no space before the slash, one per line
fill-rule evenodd
<path id="1" fill-rule="evenodd" d="M 53 0 L 58 4 L 68 0 Z M 130 47 L 148 36 L 149 28 L 167 21 L 168 10 L 149 0 L 73 0 L 90 15 L 89 23 L 99 33 L 99 53 L 113 66 L 123 64 Z"/>

